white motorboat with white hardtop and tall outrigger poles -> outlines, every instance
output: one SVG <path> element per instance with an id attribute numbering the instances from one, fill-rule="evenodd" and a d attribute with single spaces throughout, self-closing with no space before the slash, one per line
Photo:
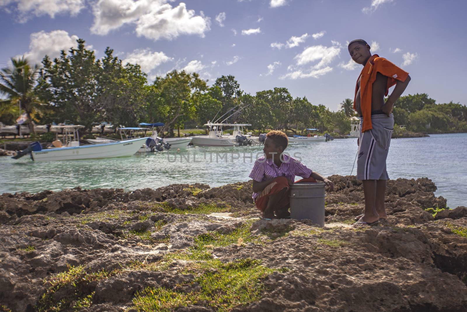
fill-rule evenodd
<path id="1" fill-rule="evenodd" d="M 205 123 L 205 127 L 208 128 L 209 134 L 207 136 L 194 136 L 191 140 L 193 145 L 198 146 L 241 146 L 241 145 L 252 145 L 259 144 L 254 140 L 251 140 L 244 136 L 243 126 L 251 126 L 249 123 L 237 124 L 237 123 Z M 224 126 L 237 126 L 237 130 L 234 128 L 232 135 L 224 135 L 222 127 Z M 241 131 L 241 133 L 239 133 Z"/>

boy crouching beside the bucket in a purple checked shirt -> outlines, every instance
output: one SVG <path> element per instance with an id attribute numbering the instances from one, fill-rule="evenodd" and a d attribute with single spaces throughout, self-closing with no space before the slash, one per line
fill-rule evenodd
<path id="1" fill-rule="evenodd" d="M 290 218 L 289 189 L 295 176 L 301 176 L 297 182 L 323 181 L 334 188 L 332 181 L 313 172 L 298 160 L 283 154 L 289 143 L 282 131 L 269 131 L 264 141 L 262 156 L 256 160 L 249 175 L 253 179 L 253 200 L 256 208 L 262 211 L 262 218 Z"/>

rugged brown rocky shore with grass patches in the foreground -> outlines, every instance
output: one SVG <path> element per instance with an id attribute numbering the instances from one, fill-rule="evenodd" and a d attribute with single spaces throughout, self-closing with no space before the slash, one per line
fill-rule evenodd
<path id="1" fill-rule="evenodd" d="M 391 180 L 354 229 L 361 183 L 329 178 L 323 228 L 258 219 L 251 181 L 0 195 L 0 311 L 466 311 L 466 207 Z"/>

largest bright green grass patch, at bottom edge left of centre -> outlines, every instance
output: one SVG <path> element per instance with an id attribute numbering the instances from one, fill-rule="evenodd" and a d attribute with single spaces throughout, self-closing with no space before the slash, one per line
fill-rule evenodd
<path id="1" fill-rule="evenodd" d="M 258 260 L 222 263 L 211 259 L 193 268 L 197 276 L 190 284 L 197 283 L 199 290 L 185 293 L 148 287 L 136 294 L 133 304 L 137 311 L 169 312 L 180 306 L 202 302 L 217 311 L 228 311 L 234 306 L 259 300 L 265 288 L 261 279 L 272 272 L 273 269 L 262 266 Z"/>

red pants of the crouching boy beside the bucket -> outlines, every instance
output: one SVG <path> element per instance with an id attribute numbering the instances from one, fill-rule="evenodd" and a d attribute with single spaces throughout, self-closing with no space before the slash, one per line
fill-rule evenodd
<path id="1" fill-rule="evenodd" d="M 298 182 L 316 182 L 314 178 L 306 178 L 306 179 L 301 179 L 298 181 L 295 181 L 296 183 Z M 269 201 L 269 196 L 272 194 L 276 194 L 277 192 L 287 189 L 287 191 L 284 193 L 284 196 L 282 196 L 281 199 L 277 201 L 275 204 L 277 210 L 288 210 L 289 209 L 289 192 L 288 190 L 290 189 L 289 183 L 287 182 L 287 178 L 285 177 L 277 177 L 274 179 L 274 181 L 269 184 L 265 189 L 262 190 L 260 195 L 256 197 L 255 199 L 255 204 L 256 208 L 258 208 L 261 211 L 264 211 L 266 209 L 266 206 L 268 205 Z M 274 211 L 277 211 L 276 209 Z"/>

